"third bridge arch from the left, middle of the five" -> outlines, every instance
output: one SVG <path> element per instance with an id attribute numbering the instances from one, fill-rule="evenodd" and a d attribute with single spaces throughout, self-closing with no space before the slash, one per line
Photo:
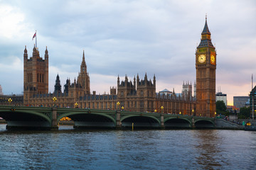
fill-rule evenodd
<path id="1" fill-rule="evenodd" d="M 151 115 L 124 115 L 120 119 L 122 128 L 160 128 L 160 120 Z"/>

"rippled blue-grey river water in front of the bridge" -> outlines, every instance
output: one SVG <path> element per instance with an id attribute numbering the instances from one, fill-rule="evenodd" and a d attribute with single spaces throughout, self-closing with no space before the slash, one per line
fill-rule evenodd
<path id="1" fill-rule="evenodd" d="M 0 169 L 256 169 L 256 132 L 7 131 L 0 124 Z"/>

